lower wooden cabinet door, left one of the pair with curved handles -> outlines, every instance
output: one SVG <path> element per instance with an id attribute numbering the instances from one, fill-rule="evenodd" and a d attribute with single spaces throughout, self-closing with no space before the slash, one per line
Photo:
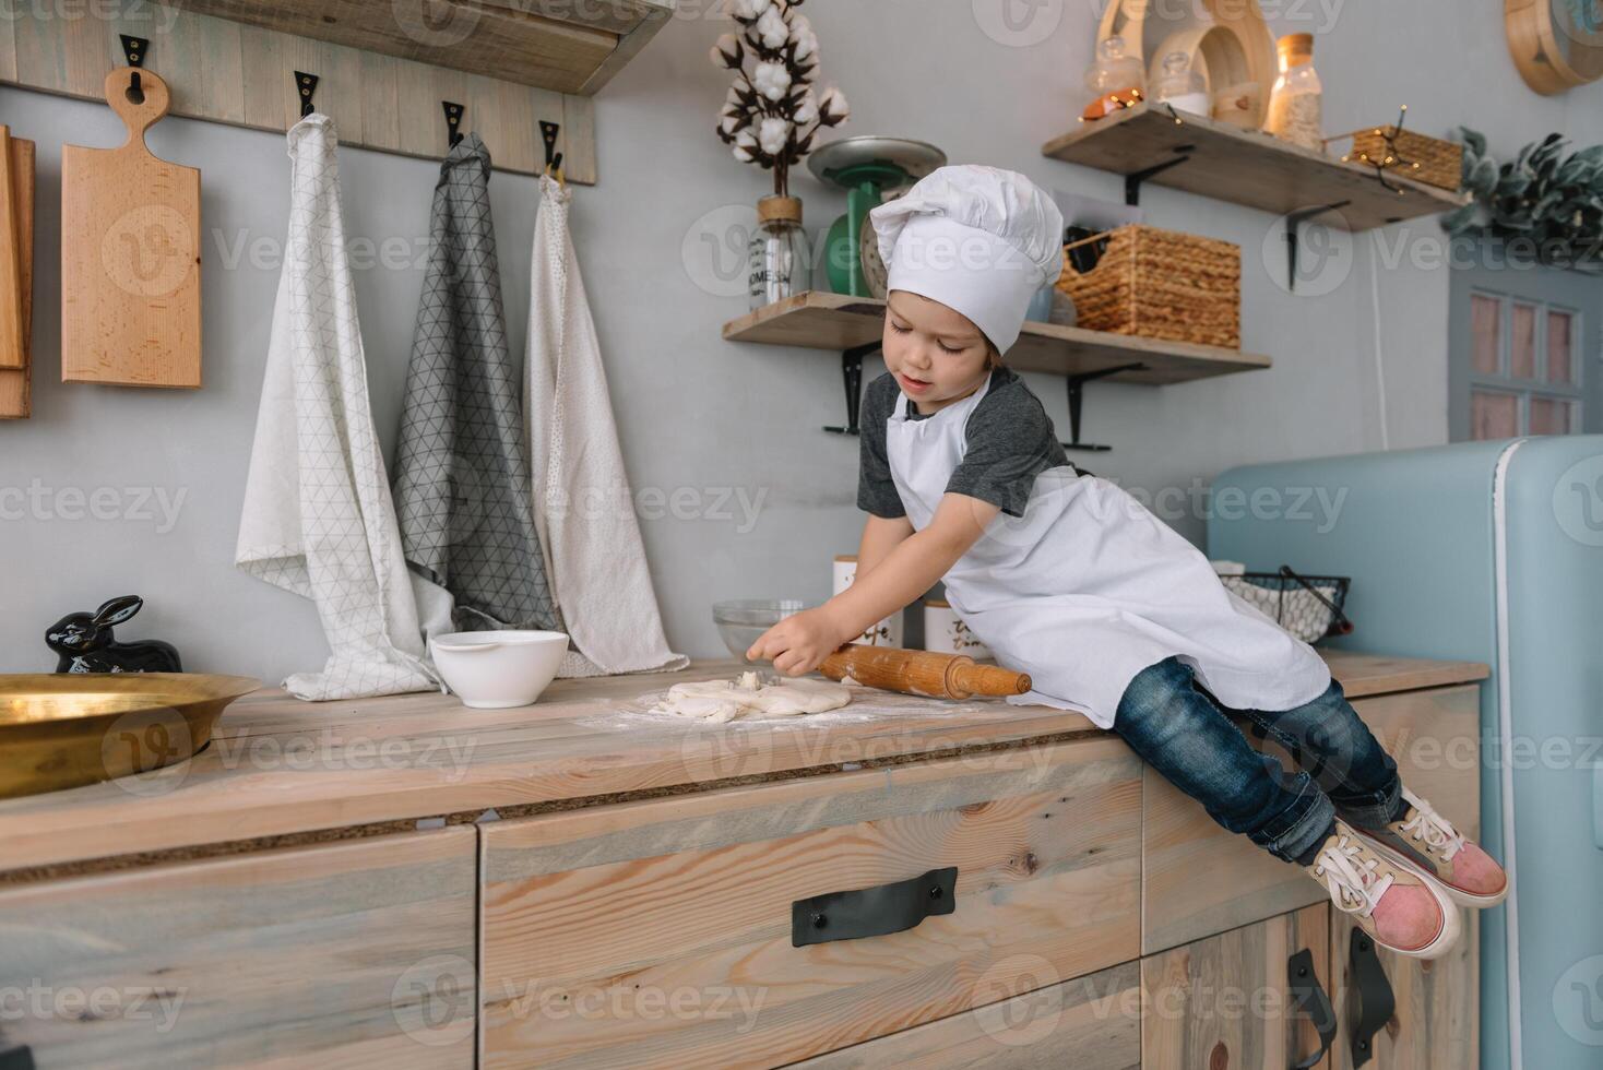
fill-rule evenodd
<path id="1" fill-rule="evenodd" d="M 1292 984 L 1310 984 L 1295 972 L 1311 967 L 1330 992 L 1329 939 L 1330 908 L 1319 903 L 1143 958 L 1141 1067 L 1278 1068 L 1319 1051 Z M 1329 1065 L 1329 1056 L 1314 1064 Z"/>

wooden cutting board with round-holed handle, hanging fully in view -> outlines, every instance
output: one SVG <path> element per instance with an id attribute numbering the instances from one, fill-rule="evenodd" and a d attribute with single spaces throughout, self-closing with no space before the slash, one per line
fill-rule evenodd
<path id="1" fill-rule="evenodd" d="M 200 171 L 159 160 L 144 131 L 172 96 L 133 67 L 106 75 L 128 125 L 117 149 L 61 149 L 61 380 L 200 386 Z"/>

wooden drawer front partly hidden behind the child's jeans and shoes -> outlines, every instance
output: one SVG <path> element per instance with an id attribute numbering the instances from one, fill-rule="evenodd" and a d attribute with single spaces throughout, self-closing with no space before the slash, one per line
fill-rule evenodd
<path id="1" fill-rule="evenodd" d="M 1398 762 L 1409 790 L 1475 836 L 1480 828 L 1480 687 L 1377 695 L 1355 700 L 1353 708 Z M 1252 742 L 1279 754 L 1290 767 L 1278 746 Z M 1220 828 L 1201 802 L 1151 767 L 1145 770 L 1145 786 L 1143 953 L 1326 899 L 1300 868 Z"/>

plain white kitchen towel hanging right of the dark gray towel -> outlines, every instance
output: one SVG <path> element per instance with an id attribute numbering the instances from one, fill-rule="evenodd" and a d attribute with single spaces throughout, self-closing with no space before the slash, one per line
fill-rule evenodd
<path id="1" fill-rule="evenodd" d="M 540 195 L 523 410 L 535 524 L 575 647 L 558 674 L 681 670 L 689 658 L 668 649 L 651 589 L 601 344 L 567 232 L 569 192 L 545 176 Z"/>

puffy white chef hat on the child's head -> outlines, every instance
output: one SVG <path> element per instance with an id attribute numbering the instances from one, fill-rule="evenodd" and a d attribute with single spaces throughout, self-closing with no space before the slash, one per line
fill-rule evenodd
<path id="1" fill-rule="evenodd" d="M 886 288 L 939 301 L 1007 352 L 1024 311 L 1063 272 L 1063 213 L 1016 171 L 943 167 L 869 213 Z"/>

